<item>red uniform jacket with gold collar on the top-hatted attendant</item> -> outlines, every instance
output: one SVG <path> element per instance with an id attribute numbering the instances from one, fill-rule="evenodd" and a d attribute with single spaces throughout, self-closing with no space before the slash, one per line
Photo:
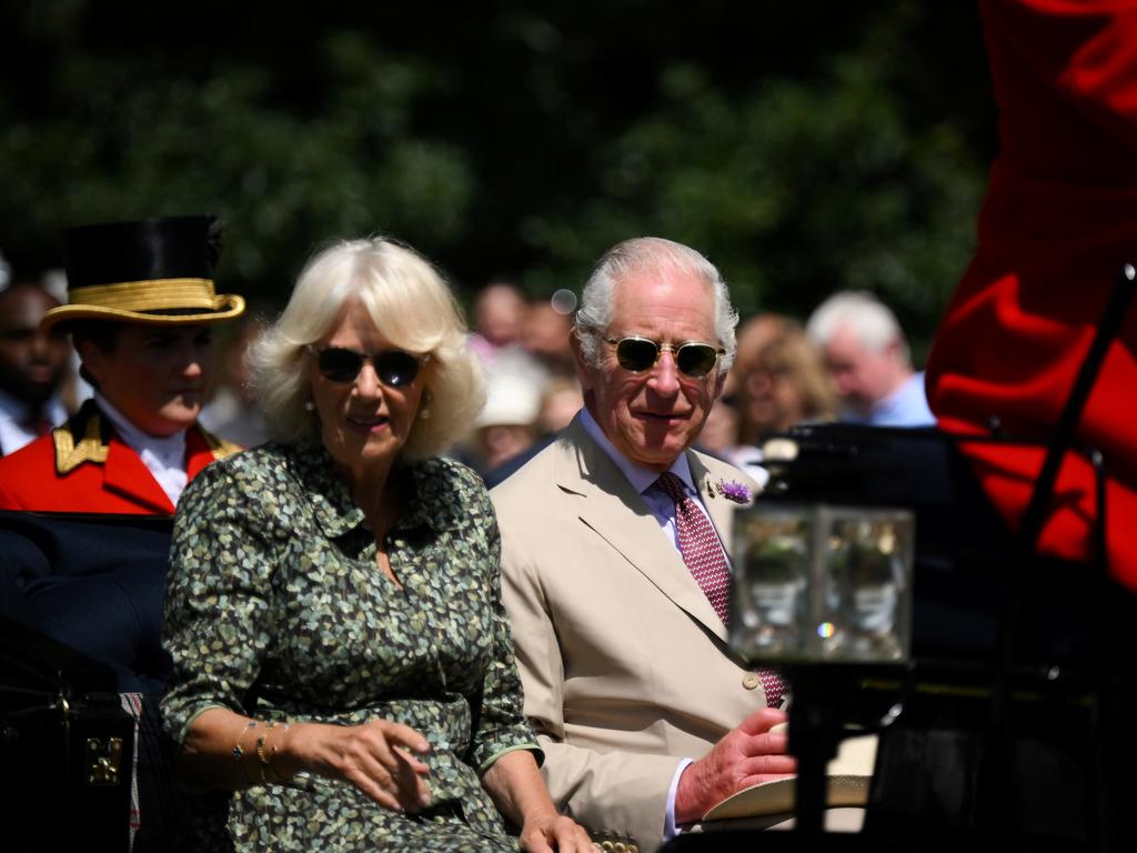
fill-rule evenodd
<path id="1" fill-rule="evenodd" d="M 185 470 L 192 480 L 236 445 L 198 425 L 185 433 Z M 174 505 L 142 458 L 118 438 L 89 401 L 73 419 L 0 458 L 0 510 L 173 515 Z"/>

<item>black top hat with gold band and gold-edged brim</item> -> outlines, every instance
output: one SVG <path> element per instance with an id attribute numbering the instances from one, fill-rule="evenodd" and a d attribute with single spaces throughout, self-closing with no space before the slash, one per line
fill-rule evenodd
<path id="1" fill-rule="evenodd" d="M 43 316 L 44 329 L 75 320 L 213 323 L 244 310 L 242 297 L 214 292 L 221 246 L 214 216 L 85 225 L 63 238 L 68 304 Z"/>

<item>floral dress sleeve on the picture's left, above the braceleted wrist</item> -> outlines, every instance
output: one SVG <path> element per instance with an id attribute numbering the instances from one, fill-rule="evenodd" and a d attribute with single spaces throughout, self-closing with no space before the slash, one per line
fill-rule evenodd
<path id="1" fill-rule="evenodd" d="M 163 644 L 173 657 L 161 710 L 179 744 L 208 707 L 244 713 L 271 637 L 274 527 L 255 471 L 215 463 L 179 502 Z"/>

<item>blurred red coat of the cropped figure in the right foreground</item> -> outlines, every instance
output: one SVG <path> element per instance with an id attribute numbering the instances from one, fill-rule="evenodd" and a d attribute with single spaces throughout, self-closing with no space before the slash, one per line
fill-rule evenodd
<path id="1" fill-rule="evenodd" d="M 940 425 L 1046 441 L 1122 263 L 1137 260 L 1137 3 L 982 0 L 1002 149 L 979 248 L 928 361 Z M 1078 440 L 1105 459 L 1112 574 L 1137 588 L 1137 305 L 1111 346 Z M 980 480 L 1016 525 L 1041 450 L 971 446 Z M 1085 560 L 1094 477 L 1069 454 L 1044 553 Z"/>

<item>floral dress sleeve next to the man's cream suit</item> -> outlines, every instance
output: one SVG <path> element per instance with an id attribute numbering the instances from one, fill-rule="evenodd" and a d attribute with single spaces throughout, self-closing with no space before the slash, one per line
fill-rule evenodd
<path id="1" fill-rule="evenodd" d="M 524 701 L 517 662 L 514 659 L 513 637 L 501 604 L 501 537 L 497 517 L 483 487 L 476 489 L 473 503 L 481 515 L 479 527 L 485 537 L 484 577 L 493 611 L 492 647 L 485 677 L 482 679 L 481 712 L 473 732 L 470 762 L 478 768 L 479 773 L 484 773 L 495 761 L 514 750 L 536 752 L 538 763 L 543 755 L 523 713 Z"/>

